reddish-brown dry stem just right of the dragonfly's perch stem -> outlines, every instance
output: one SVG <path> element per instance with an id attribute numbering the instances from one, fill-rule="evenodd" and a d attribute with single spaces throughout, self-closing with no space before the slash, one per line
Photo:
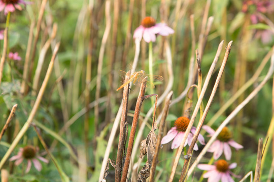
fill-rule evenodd
<path id="1" fill-rule="evenodd" d="M 145 90 L 146 90 L 146 85 L 147 85 L 146 80 L 147 80 L 147 77 L 144 78 L 143 81 L 142 81 L 142 85 L 141 85 L 141 88 L 140 88 L 140 93 L 139 93 L 138 99 L 136 101 L 136 107 L 135 107 L 132 126 L 131 126 L 131 130 L 130 130 L 130 134 L 129 134 L 128 146 L 127 146 L 127 151 L 126 151 L 126 158 L 125 158 L 124 168 L 123 168 L 123 172 L 122 172 L 121 182 L 126 181 L 126 176 L 127 176 L 127 171 L 128 171 L 128 167 L 129 167 L 132 147 L 133 147 L 134 138 L 135 138 L 135 131 L 136 131 L 137 123 L 138 123 L 138 120 L 139 120 L 141 106 L 142 106 L 143 101 L 145 99 L 144 95 L 145 95 Z"/>

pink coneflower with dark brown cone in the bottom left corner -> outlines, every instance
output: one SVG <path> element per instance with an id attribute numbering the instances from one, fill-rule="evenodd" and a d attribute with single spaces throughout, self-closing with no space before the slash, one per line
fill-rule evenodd
<path id="1" fill-rule="evenodd" d="M 42 165 L 38 159 L 40 159 L 41 161 L 45 163 L 48 163 L 49 161 L 45 159 L 44 157 L 41 157 L 40 155 L 38 155 L 38 152 L 39 152 L 38 147 L 36 149 L 33 146 L 25 146 L 24 148 L 20 148 L 18 154 L 11 157 L 10 161 L 16 160 L 15 165 L 19 165 L 22 163 L 24 159 L 26 159 L 27 160 L 27 168 L 25 170 L 26 173 L 28 173 L 30 170 L 31 161 L 33 162 L 33 165 L 35 166 L 35 168 L 38 171 L 41 171 Z"/>

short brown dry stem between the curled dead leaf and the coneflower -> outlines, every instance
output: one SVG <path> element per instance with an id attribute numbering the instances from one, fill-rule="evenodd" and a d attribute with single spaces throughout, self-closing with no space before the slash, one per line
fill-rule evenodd
<path id="1" fill-rule="evenodd" d="M 154 175 L 155 175 L 155 170 L 156 170 L 156 165 L 158 162 L 158 154 L 159 154 L 159 150 L 160 150 L 160 145 L 161 145 L 161 140 L 163 138 L 163 130 L 164 130 L 164 125 L 165 125 L 165 119 L 168 113 L 168 109 L 169 109 L 169 105 L 171 102 L 173 96 L 173 91 L 170 91 L 168 93 L 168 95 L 166 96 L 165 99 L 165 104 L 164 104 L 164 108 L 163 108 L 163 115 L 159 124 L 159 131 L 158 131 L 158 136 L 157 136 L 157 144 L 156 144 L 156 148 L 155 148 L 155 154 L 153 157 L 153 161 L 151 164 L 151 169 L 150 169 L 150 178 L 149 181 L 153 182 L 154 181 Z"/>

